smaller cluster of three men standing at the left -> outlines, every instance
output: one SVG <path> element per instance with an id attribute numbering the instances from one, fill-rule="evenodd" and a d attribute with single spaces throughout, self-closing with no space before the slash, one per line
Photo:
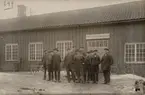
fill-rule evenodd
<path id="1" fill-rule="evenodd" d="M 48 71 L 48 81 L 55 79 L 56 82 L 60 82 L 61 57 L 58 49 L 54 49 L 53 51 L 45 50 L 42 63 L 44 68 L 43 79 L 46 80 L 46 73 Z"/>

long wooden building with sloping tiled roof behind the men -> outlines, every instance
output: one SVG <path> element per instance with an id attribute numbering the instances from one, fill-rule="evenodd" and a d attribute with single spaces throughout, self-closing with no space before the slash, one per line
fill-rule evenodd
<path id="1" fill-rule="evenodd" d="M 85 50 L 108 47 L 112 71 L 145 75 L 145 2 L 64 11 L 0 20 L 0 68 L 30 70 L 43 50 L 57 47 L 62 59 L 73 45 Z"/>

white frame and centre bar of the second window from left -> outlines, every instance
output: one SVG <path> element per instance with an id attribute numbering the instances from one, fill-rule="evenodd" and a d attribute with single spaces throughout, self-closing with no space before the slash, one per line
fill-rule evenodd
<path id="1" fill-rule="evenodd" d="M 30 45 L 31 44 L 35 44 L 35 46 L 36 44 L 42 44 L 43 46 L 43 42 L 30 42 L 28 45 L 28 61 L 41 61 L 42 59 L 36 59 L 36 47 L 35 47 L 35 59 L 34 60 L 30 59 Z M 43 47 L 42 47 L 42 55 L 43 55 Z"/>

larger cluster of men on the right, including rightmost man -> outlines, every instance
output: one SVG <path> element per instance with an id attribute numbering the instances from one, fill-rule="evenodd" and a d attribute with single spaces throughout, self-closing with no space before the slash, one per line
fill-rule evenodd
<path id="1" fill-rule="evenodd" d="M 68 82 L 71 79 L 74 82 L 90 82 L 98 83 L 99 65 L 104 75 L 104 83 L 110 83 L 110 70 L 113 64 L 113 58 L 109 53 L 109 49 L 104 49 L 105 54 L 100 58 L 98 50 L 91 50 L 85 53 L 84 48 L 68 49 L 64 63 L 67 71 Z"/>

